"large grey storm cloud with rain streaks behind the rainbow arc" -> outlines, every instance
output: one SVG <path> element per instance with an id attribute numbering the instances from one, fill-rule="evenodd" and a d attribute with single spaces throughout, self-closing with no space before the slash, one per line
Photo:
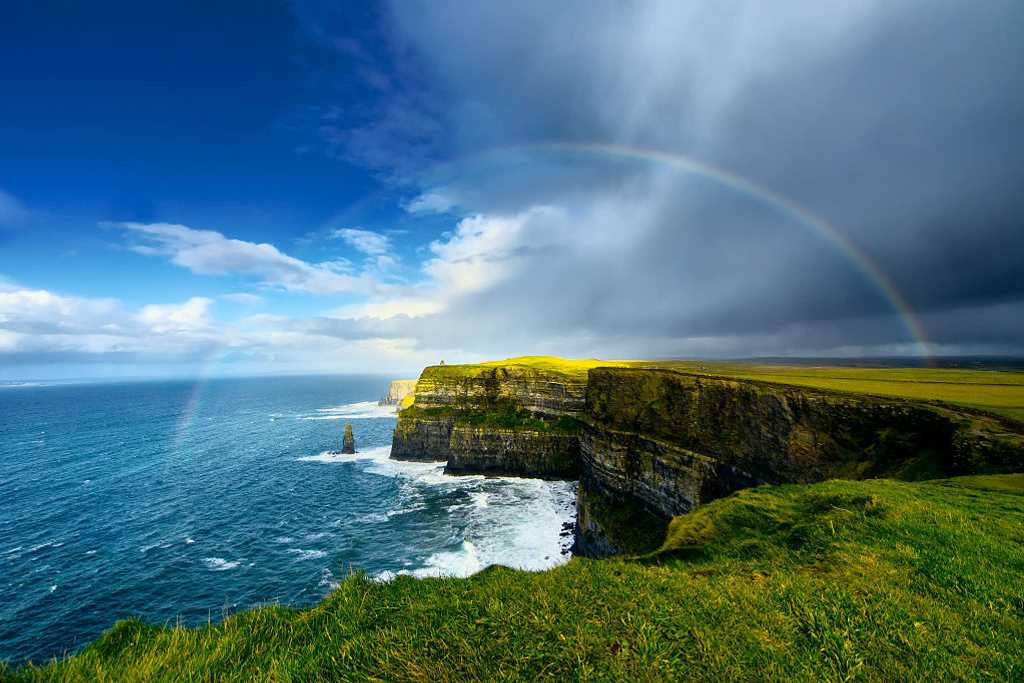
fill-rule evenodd
<path id="1" fill-rule="evenodd" d="M 389 20 L 449 136 L 424 189 L 483 216 L 560 209 L 525 220 L 513 246 L 528 252 L 502 278 L 398 326 L 425 344 L 749 355 L 910 341 L 879 284 L 806 222 L 692 173 L 529 146 L 559 140 L 746 177 L 834 224 L 942 348 L 1024 349 L 1008 321 L 1024 313 L 1021 3 L 400 2 Z M 395 125 L 355 142 L 399 166 L 382 142 L 401 139 Z"/>

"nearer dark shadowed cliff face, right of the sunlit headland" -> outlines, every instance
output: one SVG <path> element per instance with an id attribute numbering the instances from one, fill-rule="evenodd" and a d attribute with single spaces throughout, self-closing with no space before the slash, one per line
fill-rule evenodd
<path id="1" fill-rule="evenodd" d="M 762 483 L 1024 470 L 1019 425 L 996 416 L 674 371 L 592 370 L 581 423 L 577 545 L 591 555 L 628 543 L 593 508 L 646 528 Z"/>

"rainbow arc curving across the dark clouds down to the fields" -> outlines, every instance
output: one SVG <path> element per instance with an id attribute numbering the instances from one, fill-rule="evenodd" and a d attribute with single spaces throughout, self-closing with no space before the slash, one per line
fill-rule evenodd
<path id="1" fill-rule="evenodd" d="M 932 355 L 931 342 L 928 339 L 928 334 L 924 326 L 921 324 L 921 319 L 913 312 L 906 298 L 900 294 L 899 290 L 896 289 L 882 268 L 859 247 L 850 242 L 846 236 L 828 223 L 828 221 L 787 197 L 717 166 L 683 155 L 669 154 L 648 147 L 635 147 L 605 142 L 540 142 L 504 148 L 508 151 L 567 152 L 584 155 L 600 155 L 638 160 L 650 164 L 660 164 L 715 180 L 736 191 L 754 197 L 795 218 L 801 225 L 810 228 L 838 248 L 878 288 L 893 307 L 893 310 L 899 315 L 907 334 L 916 344 L 919 354 L 926 359 Z"/>

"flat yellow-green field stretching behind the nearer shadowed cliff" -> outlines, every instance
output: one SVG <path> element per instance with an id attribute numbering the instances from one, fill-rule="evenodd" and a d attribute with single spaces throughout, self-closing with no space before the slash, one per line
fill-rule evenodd
<path id="1" fill-rule="evenodd" d="M 833 368 L 665 360 L 644 367 L 914 400 L 945 401 L 1024 422 L 1024 373 L 934 368 Z"/>

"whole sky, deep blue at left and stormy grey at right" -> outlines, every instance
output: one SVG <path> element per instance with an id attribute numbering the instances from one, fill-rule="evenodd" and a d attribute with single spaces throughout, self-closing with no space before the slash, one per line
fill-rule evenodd
<path id="1" fill-rule="evenodd" d="M 16 3 L 0 380 L 1024 354 L 1024 4 Z"/>

